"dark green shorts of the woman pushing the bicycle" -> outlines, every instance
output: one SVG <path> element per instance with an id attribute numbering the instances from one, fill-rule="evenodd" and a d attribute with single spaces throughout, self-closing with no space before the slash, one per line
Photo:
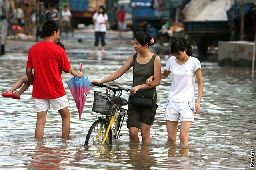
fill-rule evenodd
<path id="1" fill-rule="evenodd" d="M 129 96 L 128 101 L 128 111 L 127 111 L 127 128 L 136 127 L 140 129 L 140 123 L 146 123 L 147 125 L 152 125 L 156 115 L 156 105 L 157 95 L 153 99 L 152 108 L 148 109 L 145 107 L 133 106 L 133 95 Z"/>

